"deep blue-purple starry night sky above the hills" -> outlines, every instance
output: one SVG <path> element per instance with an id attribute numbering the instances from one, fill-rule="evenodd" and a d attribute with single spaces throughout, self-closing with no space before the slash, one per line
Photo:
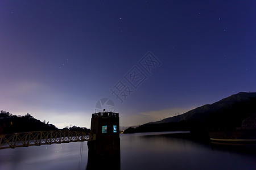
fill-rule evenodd
<path id="1" fill-rule="evenodd" d="M 256 91 L 255 8 L 2 0 L 0 110 L 90 128 L 91 114 L 106 108 L 129 126 Z"/>

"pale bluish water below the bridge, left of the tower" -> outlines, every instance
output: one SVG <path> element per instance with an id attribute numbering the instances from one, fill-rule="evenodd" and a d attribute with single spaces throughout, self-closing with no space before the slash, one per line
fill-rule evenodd
<path id="1" fill-rule="evenodd" d="M 0 150 L 0 169 L 85 169 L 86 142 Z"/>

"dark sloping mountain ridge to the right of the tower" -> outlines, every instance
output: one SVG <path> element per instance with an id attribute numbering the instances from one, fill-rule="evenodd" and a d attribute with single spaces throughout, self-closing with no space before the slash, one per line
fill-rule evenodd
<path id="1" fill-rule="evenodd" d="M 243 120 L 254 113 L 256 113 L 256 92 L 239 92 L 178 116 L 148 122 L 137 128 L 128 128 L 124 133 L 176 130 L 206 133 L 209 130 L 235 130 L 241 129 Z M 245 126 L 247 125 L 243 125 Z"/>

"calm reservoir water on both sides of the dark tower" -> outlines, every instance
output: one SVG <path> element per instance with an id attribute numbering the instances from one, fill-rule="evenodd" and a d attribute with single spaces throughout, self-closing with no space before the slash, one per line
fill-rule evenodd
<path id="1" fill-rule="evenodd" d="M 166 134 L 120 134 L 121 169 L 256 169 L 255 146 L 216 147 Z M 86 144 L 0 150 L 0 169 L 86 169 Z"/>

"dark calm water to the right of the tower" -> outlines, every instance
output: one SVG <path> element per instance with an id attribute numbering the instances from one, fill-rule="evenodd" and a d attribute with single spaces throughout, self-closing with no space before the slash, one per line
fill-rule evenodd
<path id="1" fill-rule="evenodd" d="M 255 169 L 255 152 L 238 149 L 211 145 L 189 134 L 122 134 L 121 169 Z"/>

